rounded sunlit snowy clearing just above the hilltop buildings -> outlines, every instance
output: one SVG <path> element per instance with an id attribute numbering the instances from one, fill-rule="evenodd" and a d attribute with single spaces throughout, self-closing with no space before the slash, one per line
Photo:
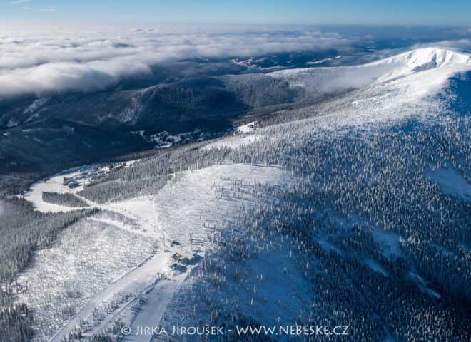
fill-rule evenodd
<path id="1" fill-rule="evenodd" d="M 242 206 L 257 205 L 257 184 L 281 185 L 289 177 L 275 167 L 245 164 L 183 172 L 156 195 L 158 224 L 186 252 L 203 252 L 223 234 L 225 222 L 236 220 Z"/>

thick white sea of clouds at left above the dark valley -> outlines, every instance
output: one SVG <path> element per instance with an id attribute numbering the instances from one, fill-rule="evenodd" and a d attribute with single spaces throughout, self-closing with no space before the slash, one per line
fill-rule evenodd
<path id="1" fill-rule="evenodd" d="M 353 41 L 320 31 L 2 31 L 0 98 L 50 91 L 93 91 L 151 66 L 190 58 L 348 48 Z"/>

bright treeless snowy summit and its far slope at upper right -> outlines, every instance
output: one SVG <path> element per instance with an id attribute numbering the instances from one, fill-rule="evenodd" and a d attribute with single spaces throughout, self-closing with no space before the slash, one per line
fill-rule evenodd
<path id="1" fill-rule="evenodd" d="M 469 70 L 471 70 L 469 53 L 445 48 L 418 48 L 360 66 L 292 69 L 276 71 L 269 75 L 284 78 L 292 86 L 303 87 L 311 95 L 319 95 L 319 93 L 335 93 L 379 85 L 420 73 L 421 77 L 431 77 L 426 82 L 420 81 L 424 89 L 419 95 L 432 95 L 437 86 L 442 86 L 447 78 L 455 73 Z"/>

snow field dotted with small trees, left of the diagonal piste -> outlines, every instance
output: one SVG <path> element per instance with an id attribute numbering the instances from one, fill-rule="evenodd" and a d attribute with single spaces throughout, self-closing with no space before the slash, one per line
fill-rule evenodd
<path id="1" fill-rule="evenodd" d="M 17 300 L 34 310 L 34 339 L 51 338 L 95 294 L 153 249 L 152 239 L 93 219 L 66 229 L 53 247 L 36 252 L 17 279 L 26 289 Z"/>

